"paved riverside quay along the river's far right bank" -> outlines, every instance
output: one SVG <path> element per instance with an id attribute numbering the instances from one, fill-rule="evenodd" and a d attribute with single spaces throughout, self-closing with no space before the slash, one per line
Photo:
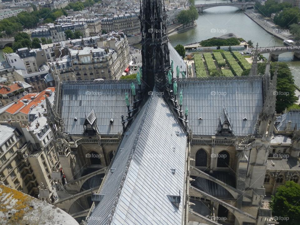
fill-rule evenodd
<path id="1" fill-rule="evenodd" d="M 292 38 L 292 35 L 289 32 L 281 32 L 285 31 L 284 29 L 276 27 L 276 25 L 269 19 L 262 17 L 261 14 L 255 12 L 244 12 L 244 14 L 252 19 L 257 25 L 262 27 L 269 34 L 274 35 L 275 37 L 281 40 L 288 40 Z"/>

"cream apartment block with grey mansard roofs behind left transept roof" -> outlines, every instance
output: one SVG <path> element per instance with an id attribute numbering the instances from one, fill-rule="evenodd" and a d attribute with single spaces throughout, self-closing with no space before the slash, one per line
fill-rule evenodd
<path id="1" fill-rule="evenodd" d="M 57 81 L 119 79 L 129 63 L 128 41 L 123 33 L 78 39 L 78 43 L 72 40 L 69 44 L 70 48 L 65 47 L 67 56 L 49 63 L 52 77 Z"/>

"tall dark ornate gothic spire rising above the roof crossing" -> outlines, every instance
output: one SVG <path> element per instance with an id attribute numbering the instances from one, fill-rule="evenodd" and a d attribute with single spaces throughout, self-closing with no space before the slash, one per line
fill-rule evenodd
<path id="1" fill-rule="evenodd" d="M 142 0 L 141 33 L 143 80 L 147 91 L 162 90 L 170 69 L 166 12 L 162 0 Z"/>

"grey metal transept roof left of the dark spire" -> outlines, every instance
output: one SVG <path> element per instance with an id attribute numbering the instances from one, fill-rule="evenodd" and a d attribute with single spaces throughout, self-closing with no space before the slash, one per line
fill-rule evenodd
<path id="1" fill-rule="evenodd" d="M 122 132 L 121 115 L 127 112 L 124 100 L 126 92 L 131 106 L 133 101 L 130 84 L 129 81 L 63 82 L 60 116 L 65 124 L 64 132 L 82 134 L 86 115 L 90 123 L 97 118 L 101 135 Z M 110 123 L 112 118 L 113 124 Z"/>

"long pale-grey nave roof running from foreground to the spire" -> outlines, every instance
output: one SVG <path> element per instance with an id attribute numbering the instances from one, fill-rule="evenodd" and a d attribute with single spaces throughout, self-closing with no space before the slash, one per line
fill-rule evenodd
<path id="1" fill-rule="evenodd" d="M 154 91 L 125 132 L 87 224 L 181 224 L 186 145 L 186 133 Z"/>

